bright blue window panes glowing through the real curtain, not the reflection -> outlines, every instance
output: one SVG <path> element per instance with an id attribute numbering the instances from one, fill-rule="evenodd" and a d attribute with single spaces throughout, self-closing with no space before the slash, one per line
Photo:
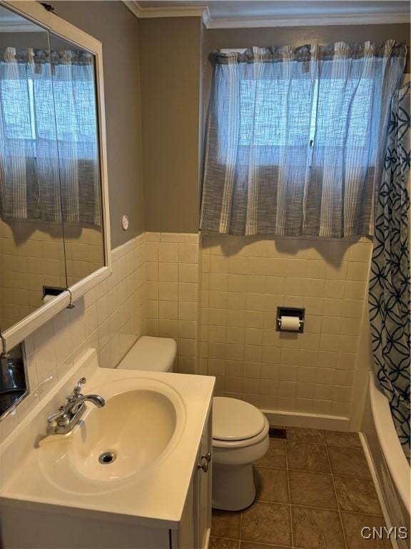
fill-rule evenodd
<path id="1" fill-rule="evenodd" d="M 242 80 L 240 82 L 240 144 L 262 147 L 299 144 L 301 127 L 288 120 L 287 103 L 297 100 L 299 80 Z M 320 91 L 320 101 L 319 101 Z M 341 97 L 343 101 L 341 104 Z M 307 98 L 309 99 L 309 98 Z M 350 107 L 345 102 L 351 102 Z M 345 79 L 315 80 L 310 128 L 305 133 L 307 146 L 314 142 L 327 144 L 333 132 L 341 146 L 354 144 L 364 147 L 367 142 L 368 116 L 372 107 L 372 80 L 360 82 Z M 349 112 L 346 129 L 341 121 L 330 129 L 330 120 Z"/>

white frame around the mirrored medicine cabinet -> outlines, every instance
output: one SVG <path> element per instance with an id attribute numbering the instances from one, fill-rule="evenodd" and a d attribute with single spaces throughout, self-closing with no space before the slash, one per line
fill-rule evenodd
<path id="1" fill-rule="evenodd" d="M 81 49 L 86 49 L 96 59 L 96 101 L 98 117 L 98 144 L 100 152 L 100 179 L 101 179 L 101 209 L 103 216 L 103 245 L 105 266 L 88 274 L 76 284 L 68 287 L 53 300 L 31 312 L 23 320 L 16 322 L 8 330 L 0 335 L 3 352 L 7 352 L 39 327 L 55 317 L 59 312 L 71 307 L 79 297 L 84 295 L 98 282 L 106 279 L 112 272 L 111 240 L 110 240 L 110 215 L 108 210 L 108 180 L 107 180 L 107 150 L 106 150 L 106 116 L 104 109 L 103 88 L 103 46 L 100 41 L 89 34 L 77 29 L 76 26 L 64 21 L 51 11 L 46 11 L 43 6 L 35 1 L 1 0 L 0 5 L 16 14 L 29 19 L 34 24 L 42 26 L 62 39 L 76 44 Z M 75 306 L 75 305 L 74 305 Z"/>

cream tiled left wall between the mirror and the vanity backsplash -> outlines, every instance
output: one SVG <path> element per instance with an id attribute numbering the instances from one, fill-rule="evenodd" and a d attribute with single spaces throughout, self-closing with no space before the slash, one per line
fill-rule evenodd
<path id="1" fill-rule="evenodd" d="M 4 437 L 43 398 L 78 355 L 98 350 L 100 365 L 116 367 L 146 333 L 144 235 L 113 250 L 113 274 L 42 326 L 25 342 L 29 396 L 0 420 Z"/>

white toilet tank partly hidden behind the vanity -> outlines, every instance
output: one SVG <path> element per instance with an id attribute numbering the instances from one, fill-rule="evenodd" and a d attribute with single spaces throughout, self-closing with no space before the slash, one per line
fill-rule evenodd
<path id="1" fill-rule="evenodd" d="M 176 358 L 177 344 L 170 337 L 143 335 L 121 360 L 118 368 L 169 372 Z"/>

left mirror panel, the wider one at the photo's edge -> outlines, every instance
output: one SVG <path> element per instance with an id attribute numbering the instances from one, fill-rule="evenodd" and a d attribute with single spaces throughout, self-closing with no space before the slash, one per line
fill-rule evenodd
<path id="1" fill-rule="evenodd" d="M 49 34 L 0 6 L 0 327 L 66 288 Z"/>

